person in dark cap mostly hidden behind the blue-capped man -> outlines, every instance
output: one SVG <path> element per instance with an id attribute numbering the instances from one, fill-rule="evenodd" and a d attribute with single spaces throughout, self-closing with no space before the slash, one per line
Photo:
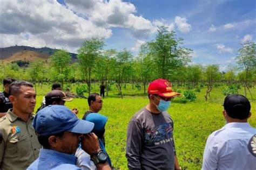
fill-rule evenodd
<path id="1" fill-rule="evenodd" d="M 45 105 L 40 107 L 37 112 L 48 105 L 65 105 L 65 102 L 71 102 L 73 98 L 67 97 L 65 93 L 61 90 L 51 90 L 48 94 L 45 95 Z M 73 108 L 72 112 L 78 114 L 78 109 Z"/>

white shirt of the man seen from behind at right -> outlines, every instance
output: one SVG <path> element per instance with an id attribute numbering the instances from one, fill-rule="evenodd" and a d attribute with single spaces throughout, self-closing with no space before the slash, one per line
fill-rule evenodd
<path id="1" fill-rule="evenodd" d="M 254 134 L 256 129 L 249 123 L 228 123 L 210 134 L 205 145 L 202 169 L 256 169 L 256 157 L 247 147 Z"/>

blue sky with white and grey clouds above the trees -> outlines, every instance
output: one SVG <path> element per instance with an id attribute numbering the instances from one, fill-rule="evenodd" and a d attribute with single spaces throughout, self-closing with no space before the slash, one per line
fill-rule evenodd
<path id="1" fill-rule="evenodd" d="M 0 0 L 0 47 L 26 45 L 77 52 L 104 38 L 105 49 L 139 47 L 158 26 L 183 38 L 192 62 L 234 65 L 241 43 L 256 39 L 254 0 Z"/>

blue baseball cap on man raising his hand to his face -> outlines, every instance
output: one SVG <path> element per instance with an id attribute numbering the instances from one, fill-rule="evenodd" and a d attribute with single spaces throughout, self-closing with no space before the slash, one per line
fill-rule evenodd
<path id="1" fill-rule="evenodd" d="M 80 120 L 64 105 L 49 105 L 37 112 L 33 127 L 39 136 L 49 136 L 60 132 L 89 133 L 94 123 Z"/>

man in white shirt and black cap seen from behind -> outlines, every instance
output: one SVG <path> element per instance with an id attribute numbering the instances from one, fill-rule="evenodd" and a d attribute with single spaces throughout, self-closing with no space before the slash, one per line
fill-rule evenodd
<path id="1" fill-rule="evenodd" d="M 251 104 L 245 96 L 226 96 L 223 110 L 226 125 L 208 137 L 202 169 L 256 169 L 256 157 L 250 147 L 248 150 L 250 139 L 256 134 L 256 129 L 247 122 L 250 110 Z"/>

